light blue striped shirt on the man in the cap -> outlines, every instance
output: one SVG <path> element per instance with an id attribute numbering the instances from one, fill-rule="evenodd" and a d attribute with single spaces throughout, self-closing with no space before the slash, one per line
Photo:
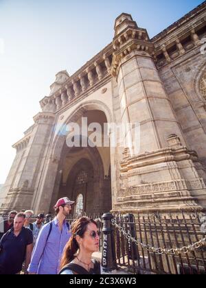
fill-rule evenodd
<path id="1" fill-rule="evenodd" d="M 45 224 L 39 232 L 36 244 L 32 252 L 32 260 L 28 272 L 36 274 L 58 274 L 60 259 L 71 233 L 67 228 L 66 221 L 60 232 L 58 219 L 52 221 L 52 231 L 49 234 L 49 223 Z M 47 242 L 46 242 L 47 241 Z"/>

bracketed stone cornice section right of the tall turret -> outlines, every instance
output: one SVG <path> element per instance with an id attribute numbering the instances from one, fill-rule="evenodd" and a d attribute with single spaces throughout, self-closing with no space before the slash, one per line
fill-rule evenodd
<path id="1" fill-rule="evenodd" d="M 206 37 L 206 3 L 151 39 L 155 45 L 154 58 L 161 68 L 187 52 L 201 46 Z"/>

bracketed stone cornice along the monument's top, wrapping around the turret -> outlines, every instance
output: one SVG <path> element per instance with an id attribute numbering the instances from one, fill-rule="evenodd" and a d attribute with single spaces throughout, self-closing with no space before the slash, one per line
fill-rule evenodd
<path id="1" fill-rule="evenodd" d="M 157 36 L 149 39 L 146 29 L 133 25 L 128 26 L 113 39 L 113 43 L 105 47 L 98 55 L 74 73 L 60 85 L 49 97 L 41 101 L 45 112 L 57 112 L 67 104 L 73 103 L 84 94 L 98 86 L 102 80 L 115 76 L 118 62 L 122 55 L 133 49 L 146 51 L 154 58 L 160 69 L 172 61 L 201 46 L 201 39 L 206 37 L 206 3 L 201 4 L 182 19 L 165 29 Z M 130 47 L 127 47 L 127 43 Z"/>

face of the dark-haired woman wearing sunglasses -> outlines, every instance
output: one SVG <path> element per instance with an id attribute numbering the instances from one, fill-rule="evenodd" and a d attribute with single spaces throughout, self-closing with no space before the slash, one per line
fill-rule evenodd
<path id="1" fill-rule="evenodd" d="M 98 235 L 98 228 L 95 224 L 90 223 L 87 226 L 86 232 L 84 232 L 84 237 L 81 239 L 80 248 L 87 250 L 88 252 L 98 252 L 99 251 L 99 241 L 100 237 Z"/>

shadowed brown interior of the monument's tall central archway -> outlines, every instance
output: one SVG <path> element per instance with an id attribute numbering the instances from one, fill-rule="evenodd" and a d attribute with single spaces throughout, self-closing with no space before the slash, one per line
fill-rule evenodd
<path id="1" fill-rule="evenodd" d="M 87 117 L 88 125 L 96 121 L 103 128 L 106 123 L 102 111 L 87 111 L 83 117 Z M 80 135 L 81 139 L 83 137 Z M 68 147 L 65 141 L 59 165 L 61 173 L 56 179 L 56 195 L 67 196 L 76 202 L 72 213 L 89 215 L 111 211 L 110 167 L 110 147 Z"/>

